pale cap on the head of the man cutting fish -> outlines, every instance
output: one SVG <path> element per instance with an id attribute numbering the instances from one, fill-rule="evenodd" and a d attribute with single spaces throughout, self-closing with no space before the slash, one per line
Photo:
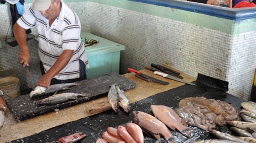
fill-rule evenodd
<path id="1" fill-rule="evenodd" d="M 31 8 L 33 10 L 45 11 L 51 5 L 52 0 L 33 0 Z"/>

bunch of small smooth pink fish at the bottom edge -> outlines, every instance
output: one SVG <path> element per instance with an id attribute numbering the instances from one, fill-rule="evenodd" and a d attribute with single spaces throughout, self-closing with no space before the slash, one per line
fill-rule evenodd
<path id="1" fill-rule="evenodd" d="M 134 123 L 126 123 L 118 128 L 107 127 L 107 132 L 102 133 L 96 143 L 143 143 L 144 137 L 141 127 Z"/>

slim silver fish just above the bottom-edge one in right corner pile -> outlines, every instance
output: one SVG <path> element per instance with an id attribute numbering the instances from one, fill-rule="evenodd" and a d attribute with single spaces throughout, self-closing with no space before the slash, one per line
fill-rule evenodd
<path id="1" fill-rule="evenodd" d="M 230 140 L 236 143 L 248 143 L 244 140 L 241 140 L 235 136 L 232 136 L 228 133 L 223 133 L 220 131 L 216 131 L 216 130 L 209 130 L 209 133 L 211 133 L 213 136 L 215 136 L 217 139 L 222 139 L 222 140 Z"/>

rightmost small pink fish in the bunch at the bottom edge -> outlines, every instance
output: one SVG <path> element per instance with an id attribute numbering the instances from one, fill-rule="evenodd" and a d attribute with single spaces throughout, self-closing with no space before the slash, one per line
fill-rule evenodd
<path id="1" fill-rule="evenodd" d="M 138 124 L 127 123 L 125 124 L 125 128 L 137 143 L 144 142 L 143 132 L 141 130 L 141 127 L 138 126 Z"/>

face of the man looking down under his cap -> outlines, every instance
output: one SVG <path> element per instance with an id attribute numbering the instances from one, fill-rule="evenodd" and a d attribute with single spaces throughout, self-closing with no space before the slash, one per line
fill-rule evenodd
<path id="1" fill-rule="evenodd" d="M 54 3 L 51 3 L 50 7 L 45 11 L 40 11 L 41 15 L 46 17 L 48 20 L 55 20 L 57 16 L 59 15 L 59 1 L 55 1 Z"/>

